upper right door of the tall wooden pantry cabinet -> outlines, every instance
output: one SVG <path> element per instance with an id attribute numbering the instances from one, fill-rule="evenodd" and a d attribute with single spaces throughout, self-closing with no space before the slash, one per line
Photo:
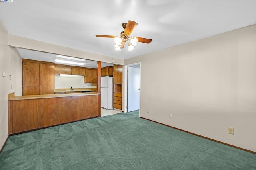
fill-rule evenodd
<path id="1" fill-rule="evenodd" d="M 40 63 L 40 86 L 54 86 L 54 64 Z"/>

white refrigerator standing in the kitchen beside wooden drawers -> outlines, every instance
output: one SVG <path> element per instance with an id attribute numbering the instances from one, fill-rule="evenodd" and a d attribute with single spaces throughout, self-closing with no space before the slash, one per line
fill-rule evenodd
<path id="1" fill-rule="evenodd" d="M 100 107 L 104 109 L 113 109 L 113 77 L 101 77 L 101 104 Z"/>

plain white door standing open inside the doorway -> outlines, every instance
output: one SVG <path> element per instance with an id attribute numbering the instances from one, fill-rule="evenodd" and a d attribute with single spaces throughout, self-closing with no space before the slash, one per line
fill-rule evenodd
<path id="1" fill-rule="evenodd" d="M 140 66 L 140 65 L 138 65 Z M 128 67 L 127 111 L 140 109 L 140 68 Z"/>

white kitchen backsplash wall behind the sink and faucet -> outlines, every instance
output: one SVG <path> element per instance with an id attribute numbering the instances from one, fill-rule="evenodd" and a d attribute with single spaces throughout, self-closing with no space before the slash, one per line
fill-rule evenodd
<path id="1" fill-rule="evenodd" d="M 81 77 L 62 77 L 55 75 L 55 88 L 97 88 L 96 83 L 84 83 L 84 76 Z"/>

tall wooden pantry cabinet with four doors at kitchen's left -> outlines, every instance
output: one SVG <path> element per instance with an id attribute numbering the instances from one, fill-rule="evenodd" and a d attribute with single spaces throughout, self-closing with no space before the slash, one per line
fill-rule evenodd
<path id="1" fill-rule="evenodd" d="M 54 94 L 54 63 L 22 59 L 22 95 Z"/>

